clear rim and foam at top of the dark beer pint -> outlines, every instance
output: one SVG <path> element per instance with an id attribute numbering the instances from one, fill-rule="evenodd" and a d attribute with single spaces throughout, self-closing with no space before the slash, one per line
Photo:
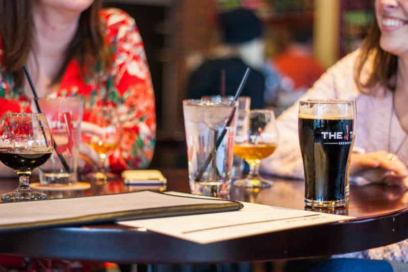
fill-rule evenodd
<path id="1" fill-rule="evenodd" d="M 299 102 L 299 118 L 353 119 L 354 102 L 341 100 L 308 100 Z"/>

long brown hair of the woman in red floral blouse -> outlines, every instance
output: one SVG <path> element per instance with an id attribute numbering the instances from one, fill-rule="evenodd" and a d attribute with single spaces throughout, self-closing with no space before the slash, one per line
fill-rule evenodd
<path id="1" fill-rule="evenodd" d="M 100 7 L 101 0 L 95 0 L 81 13 L 77 32 L 66 49 L 65 58 L 52 79 L 52 85 L 61 81 L 72 59 L 77 59 L 80 67 L 97 61 L 102 71 L 108 70 L 110 58 L 104 29 L 99 20 Z M 6 77 L 13 75 L 16 88 L 20 88 L 23 83 L 22 68 L 27 64 L 35 42 L 34 31 L 32 0 L 0 0 L 0 44 L 3 50 L 1 65 Z M 82 75 L 85 72 L 85 68 L 81 69 Z M 91 69 L 90 72 L 95 71 Z"/>

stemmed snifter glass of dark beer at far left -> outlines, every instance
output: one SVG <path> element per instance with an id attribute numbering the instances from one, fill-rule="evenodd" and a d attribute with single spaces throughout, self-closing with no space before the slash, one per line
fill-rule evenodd
<path id="1" fill-rule="evenodd" d="M 0 161 L 14 169 L 18 187 L 2 195 L 5 202 L 45 199 L 46 194 L 29 186 L 35 167 L 53 153 L 53 138 L 42 113 L 6 113 L 0 122 Z"/>

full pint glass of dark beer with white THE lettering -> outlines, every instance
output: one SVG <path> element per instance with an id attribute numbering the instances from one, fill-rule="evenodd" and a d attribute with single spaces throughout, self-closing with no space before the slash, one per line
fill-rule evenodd
<path id="1" fill-rule="evenodd" d="M 354 121 L 354 101 L 299 102 L 299 143 L 306 206 L 345 206 Z"/>

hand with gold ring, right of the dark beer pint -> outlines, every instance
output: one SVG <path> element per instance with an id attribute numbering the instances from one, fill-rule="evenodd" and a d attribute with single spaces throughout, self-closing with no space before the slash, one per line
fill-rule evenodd
<path id="1" fill-rule="evenodd" d="M 350 176 L 362 176 L 371 182 L 384 182 L 408 189 L 408 168 L 396 155 L 386 151 L 352 153 Z"/>

